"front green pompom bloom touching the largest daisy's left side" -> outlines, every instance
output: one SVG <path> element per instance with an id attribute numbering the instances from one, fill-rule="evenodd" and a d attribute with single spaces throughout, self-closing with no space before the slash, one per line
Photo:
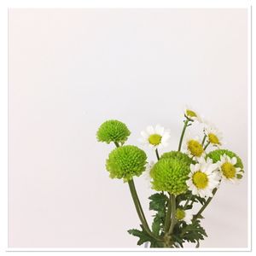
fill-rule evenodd
<path id="1" fill-rule="evenodd" d="M 160 159 L 151 169 L 153 189 L 179 195 L 187 191 L 188 162 L 177 158 Z"/>

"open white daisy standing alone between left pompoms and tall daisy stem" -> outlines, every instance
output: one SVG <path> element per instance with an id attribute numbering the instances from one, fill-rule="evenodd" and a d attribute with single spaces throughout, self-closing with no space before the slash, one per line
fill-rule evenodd
<path id="1" fill-rule="evenodd" d="M 171 137 L 170 131 L 160 125 L 155 127 L 152 125 L 148 126 L 146 131 L 141 132 L 141 135 L 140 142 L 154 149 L 168 146 L 168 141 Z"/>

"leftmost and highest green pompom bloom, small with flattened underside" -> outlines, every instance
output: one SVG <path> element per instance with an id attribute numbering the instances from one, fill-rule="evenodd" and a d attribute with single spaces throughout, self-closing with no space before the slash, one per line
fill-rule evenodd
<path id="1" fill-rule="evenodd" d="M 97 140 L 103 143 L 125 143 L 131 132 L 118 120 L 104 122 L 96 133 Z"/>

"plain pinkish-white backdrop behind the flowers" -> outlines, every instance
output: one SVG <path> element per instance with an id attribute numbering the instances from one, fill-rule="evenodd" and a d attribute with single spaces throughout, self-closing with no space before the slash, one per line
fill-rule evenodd
<path id="1" fill-rule="evenodd" d="M 113 145 L 96 130 L 119 119 L 137 143 L 160 123 L 175 149 L 185 104 L 247 172 L 246 9 L 11 9 L 9 247 L 136 247 L 128 186 L 108 177 Z M 135 182 L 150 218 L 153 191 Z M 201 247 L 247 247 L 247 173 L 204 215 Z"/>

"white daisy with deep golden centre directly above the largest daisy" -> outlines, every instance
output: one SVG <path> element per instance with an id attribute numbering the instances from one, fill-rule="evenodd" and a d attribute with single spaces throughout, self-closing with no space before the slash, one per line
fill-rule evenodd
<path id="1" fill-rule="evenodd" d="M 195 159 L 199 159 L 206 154 L 200 137 L 192 137 L 190 133 L 187 133 L 187 136 L 184 138 L 183 149 L 186 154 L 189 154 L 189 157 L 195 157 Z"/>

